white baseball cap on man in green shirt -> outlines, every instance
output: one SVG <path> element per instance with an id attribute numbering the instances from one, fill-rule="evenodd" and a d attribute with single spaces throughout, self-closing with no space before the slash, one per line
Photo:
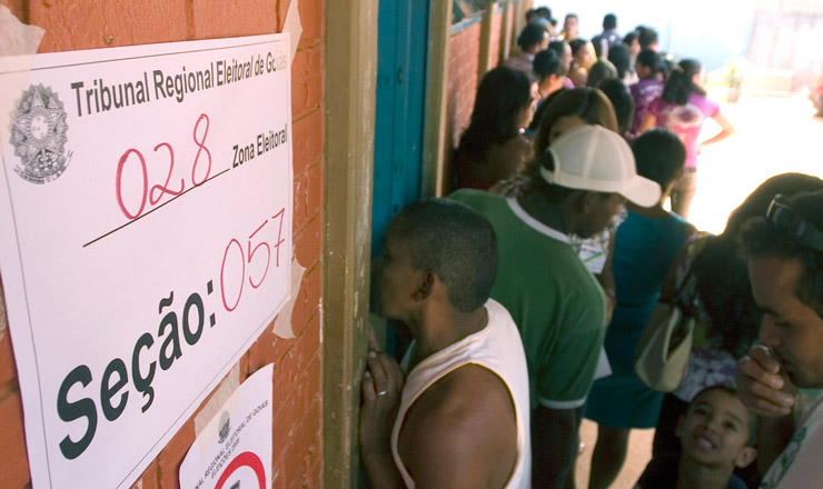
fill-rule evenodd
<path id="1" fill-rule="evenodd" d="M 661 186 L 637 174 L 628 143 L 602 126 L 572 128 L 546 151 L 554 159 L 554 171 L 541 166 L 541 176 L 549 183 L 619 193 L 641 207 L 654 207 L 661 200 Z"/>

